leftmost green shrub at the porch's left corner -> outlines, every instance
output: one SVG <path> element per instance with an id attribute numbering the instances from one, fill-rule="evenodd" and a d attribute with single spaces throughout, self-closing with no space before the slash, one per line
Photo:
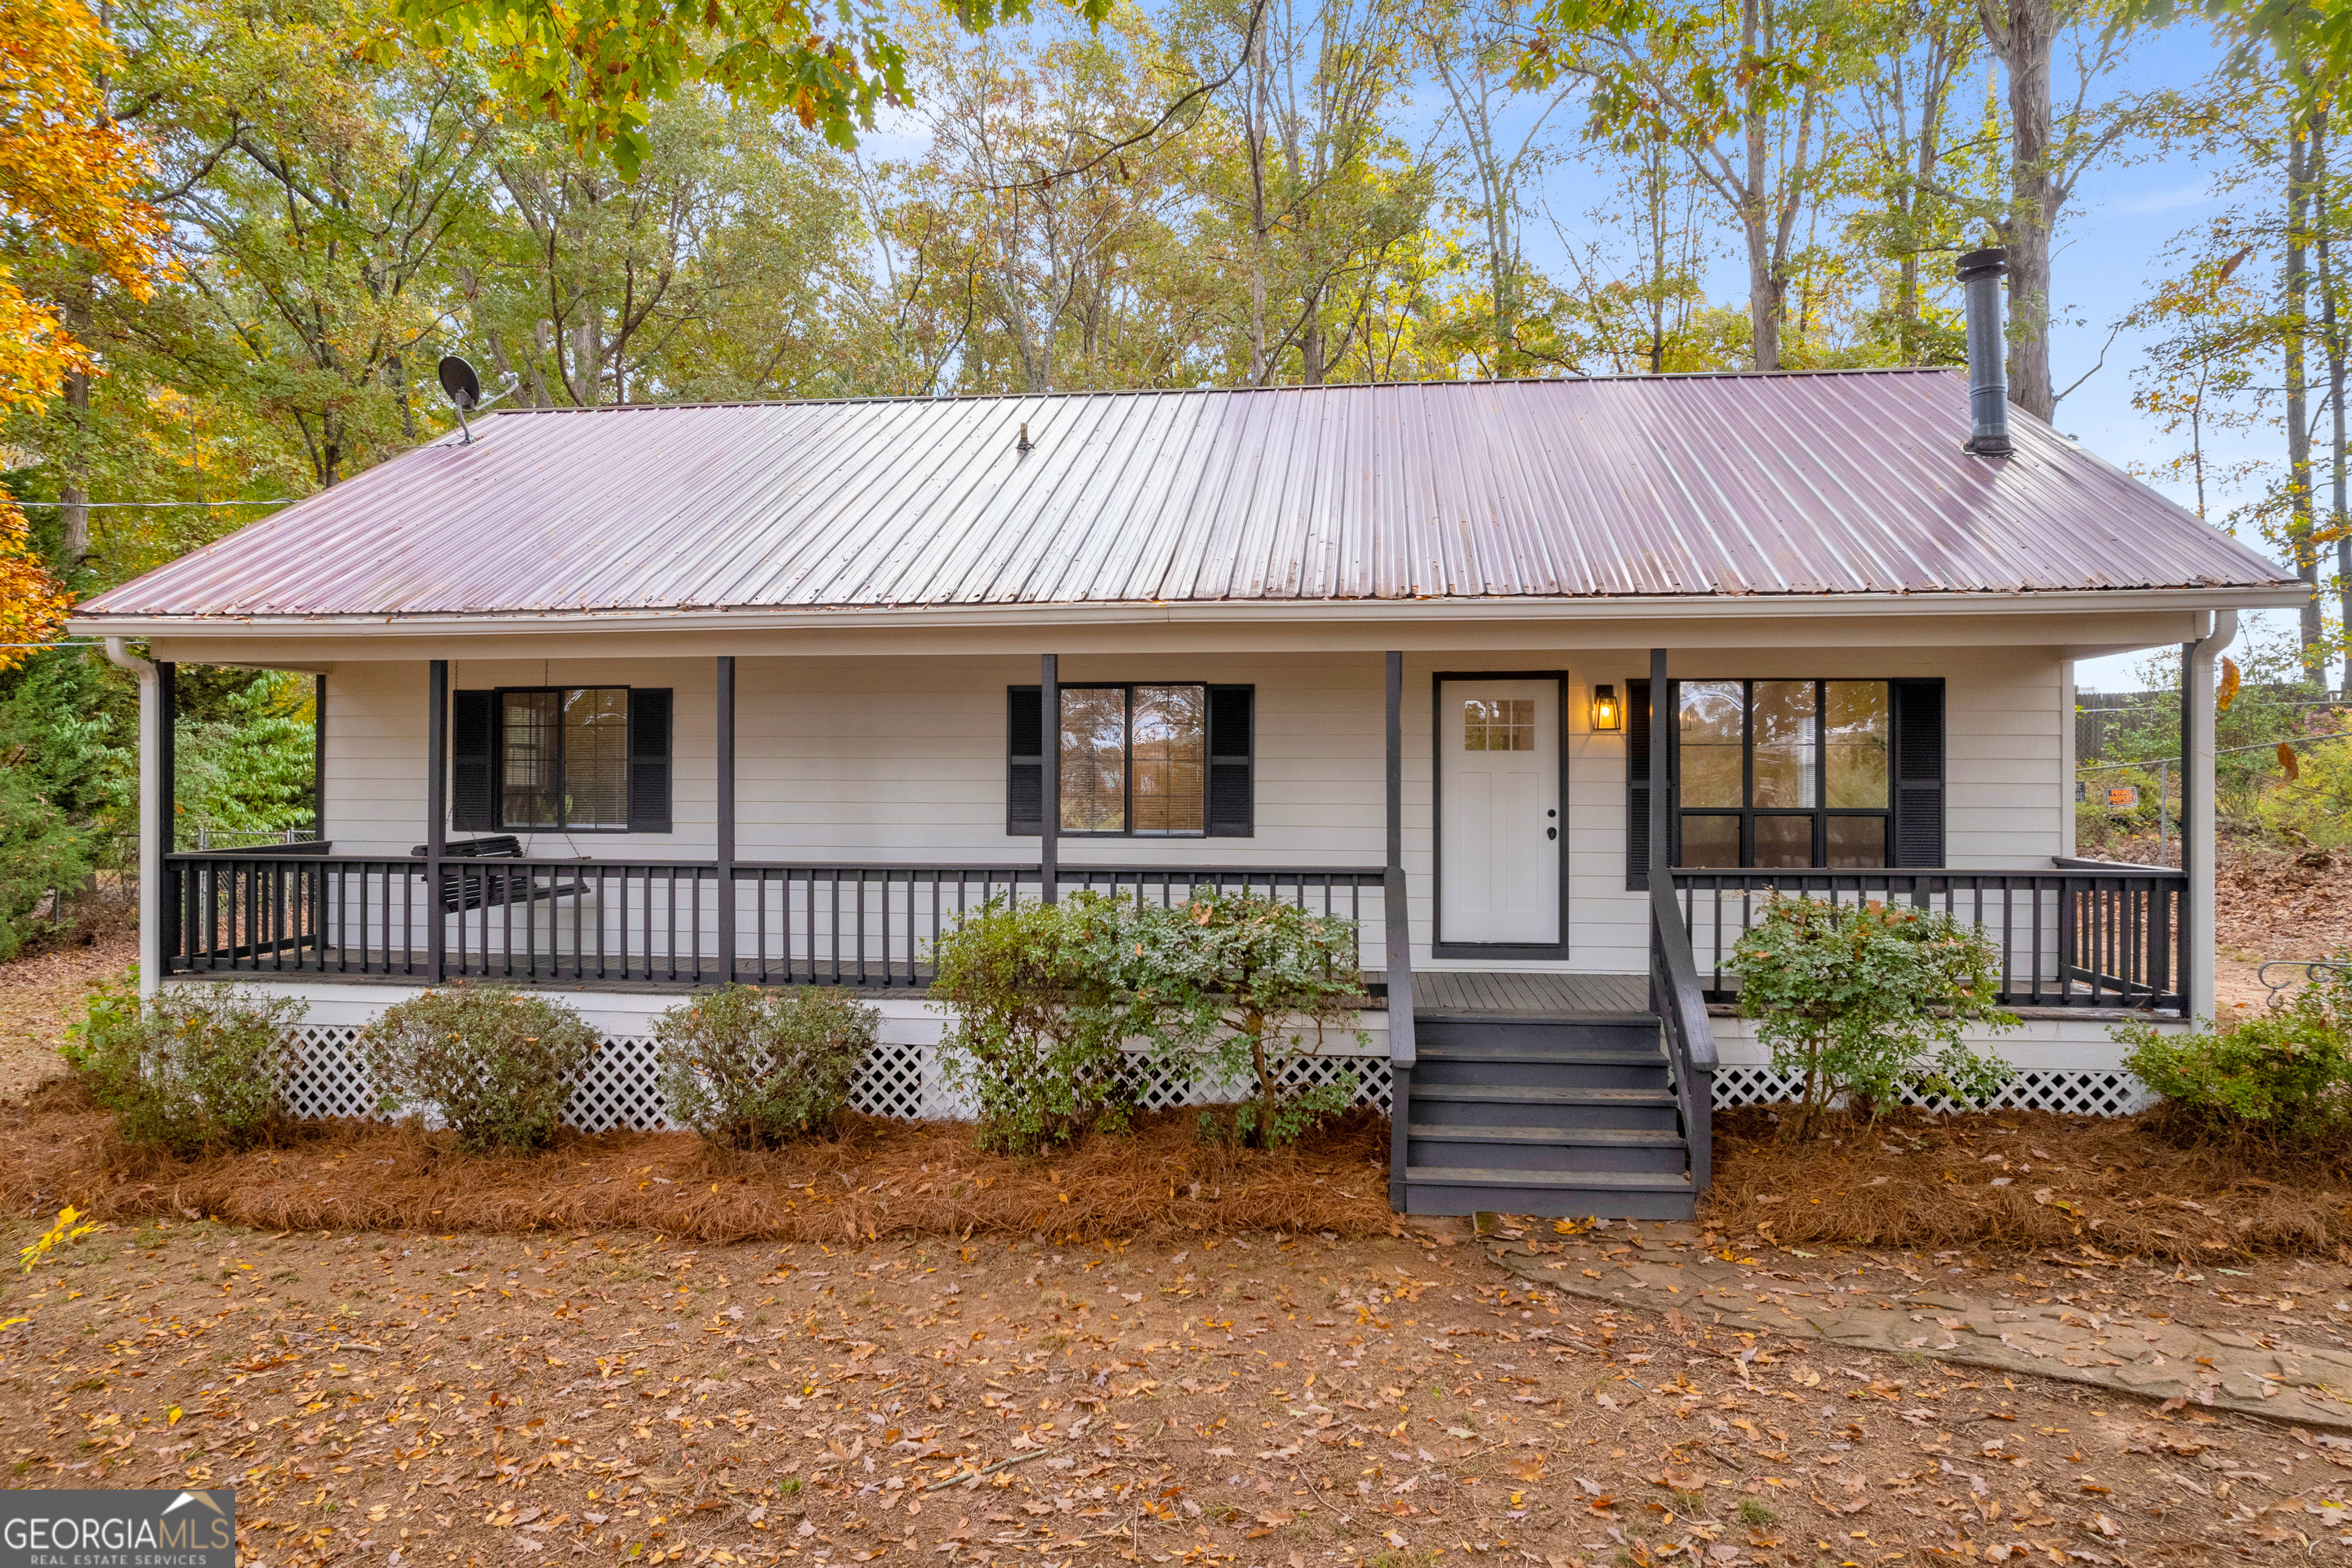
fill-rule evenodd
<path id="1" fill-rule="evenodd" d="M 167 985 L 139 999 L 139 971 L 92 987 L 71 1027 L 66 1063 L 132 1143 L 179 1154 L 242 1150 L 285 1117 L 287 1079 L 301 1067 L 296 997 L 238 985 Z"/>

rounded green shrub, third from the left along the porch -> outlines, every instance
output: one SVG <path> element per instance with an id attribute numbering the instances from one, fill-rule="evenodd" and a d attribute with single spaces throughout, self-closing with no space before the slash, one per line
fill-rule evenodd
<path id="1" fill-rule="evenodd" d="M 710 1143 L 771 1150 L 828 1121 L 882 1013 L 835 990 L 729 985 L 654 1020 L 670 1114 Z"/>

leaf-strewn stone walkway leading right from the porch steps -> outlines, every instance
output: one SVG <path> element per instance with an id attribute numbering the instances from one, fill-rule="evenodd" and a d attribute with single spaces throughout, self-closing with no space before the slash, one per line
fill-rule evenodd
<path id="1" fill-rule="evenodd" d="M 2216 1410 L 2352 1432 L 2352 1352 L 2279 1335 L 2199 1331 L 2089 1307 L 2025 1305 L 1945 1291 L 1856 1295 L 1828 1279 L 1778 1274 L 1757 1258 L 1705 1253 L 1689 1227 L 1566 1241 L 1494 1239 L 1489 1255 L 1552 1291 L 1649 1312 L 1698 1328 L 1783 1335 L 1929 1356 L 2034 1378 L 2060 1378 Z"/>

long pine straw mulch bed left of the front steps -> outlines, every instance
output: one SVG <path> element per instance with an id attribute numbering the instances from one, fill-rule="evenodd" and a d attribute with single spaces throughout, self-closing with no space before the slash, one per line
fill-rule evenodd
<path id="1" fill-rule="evenodd" d="M 115 1138 L 71 1081 L 0 1110 L 0 1211 L 99 1220 L 209 1215 L 256 1229 L 642 1229 L 694 1241 L 884 1234 L 1096 1239 L 1188 1232 L 1390 1232 L 1388 1121 L 1357 1112 L 1289 1150 L 1202 1147 L 1190 1112 L 1018 1159 L 971 1128 L 844 1112 L 828 1135 L 722 1152 L 691 1133 L 564 1135 L 524 1157 L 447 1133 L 303 1121 L 273 1147 L 176 1159 Z"/>

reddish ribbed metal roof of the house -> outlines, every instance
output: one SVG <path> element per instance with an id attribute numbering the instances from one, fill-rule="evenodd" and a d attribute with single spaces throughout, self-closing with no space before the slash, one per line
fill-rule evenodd
<path id="1" fill-rule="evenodd" d="M 2037 421 L 1966 435 L 1950 371 L 506 411 L 80 616 L 2288 581 Z"/>

